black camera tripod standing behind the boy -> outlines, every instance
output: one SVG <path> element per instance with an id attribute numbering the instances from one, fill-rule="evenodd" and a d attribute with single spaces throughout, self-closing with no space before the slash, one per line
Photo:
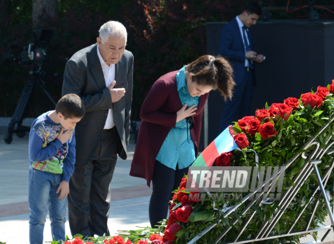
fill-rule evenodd
<path id="1" fill-rule="evenodd" d="M 11 119 L 11 122 L 8 125 L 7 134 L 5 135 L 5 138 L 4 138 L 7 144 L 10 144 L 13 141 L 13 133 L 16 133 L 17 136 L 21 138 L 25 136 L 25 132 L 30 131 L 30 127 L 23 126 L 22 121 L 24 119 L 23 112 L 27 106 L 30 94 L 35 84 L 39 85 L 43 89 L 43 91 L 49 97 L 50 101 L 56 106 L 55 100 L 53 99 L 51 94 L 48 92 L 46 88 L 46 83 L 42 79 L 43 76 L 48 75 L 48 74 L 44 70 L 42 70 L 41 67 L 30 66 L 29 69 L 30 69 L 29 70 L 30 79 L 26 82 L 23 88 L 19 103 L 17 104 L 15 108 L 13 118 Z M 56 81 L 54 80 L 54 82 Z M 15 125 L 17 125 L 16 129 L 14 129 Z"/>

